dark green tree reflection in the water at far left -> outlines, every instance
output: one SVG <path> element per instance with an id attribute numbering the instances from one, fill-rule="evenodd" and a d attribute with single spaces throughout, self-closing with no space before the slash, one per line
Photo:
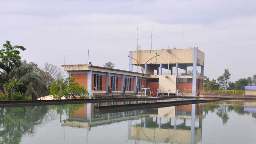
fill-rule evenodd
<path id="1" fill-rule="evenodd" d="M 23 135 L 33 135 L 48 106 L 0 108 L 0 143 L 20 143 Z"/>

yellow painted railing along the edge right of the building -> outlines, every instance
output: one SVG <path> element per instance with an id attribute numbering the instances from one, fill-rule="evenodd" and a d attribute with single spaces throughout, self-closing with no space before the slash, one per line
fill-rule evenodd
<path id="1" fill-rule="evenodd" d="M 219 94 L 219 95 L 243 95 L 244 91 L 225 91 L 225 90 L 200 90 L 198 93 L 201 94 Z"/>

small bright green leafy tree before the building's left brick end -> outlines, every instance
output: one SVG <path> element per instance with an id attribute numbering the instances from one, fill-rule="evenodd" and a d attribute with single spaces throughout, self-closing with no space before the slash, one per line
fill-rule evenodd
<path id="1" fill-rule="evenodd" d="M 50 84 L 50 91 L 53 99 L 60 99 L 60 83 L 63 81 L 63 79 L 58 79 L 56 83 Z M 84 86 L 76 83 L 73 77 L 68 77 L 65 81 L 66 83 L 62 84 L 62 96 L 65 96 L 67 99 L 70 96 L 73 96 L 74 99 L 76 99 L 76 96 L 89 96 L 89 92 L 84 88 Z"/>

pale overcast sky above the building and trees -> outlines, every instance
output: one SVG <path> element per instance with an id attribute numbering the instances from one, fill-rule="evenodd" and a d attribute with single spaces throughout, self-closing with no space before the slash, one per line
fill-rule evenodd
<path id="1" fill-rule="evenodd" d="M 45 62 L 129 70 L 129 51 L 198 47 L 204 75 L 217 79 L 228 68 L 230 81 L 256 74 L 255 0 L 1 0 L 0 42 Z M 137 31 L 137 25 L 139 27 Z M 184 28 L 185 27 L 185 28 Z M 185 35 L 184 35 L 185 29 Z M 64 55 L 64 53 L 66 53 Z M 136 70 L 136 69 L 135 69 Z"/>

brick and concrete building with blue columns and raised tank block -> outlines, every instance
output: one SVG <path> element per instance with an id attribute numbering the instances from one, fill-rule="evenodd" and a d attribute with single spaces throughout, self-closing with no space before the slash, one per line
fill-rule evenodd
<path id="1" fill-rule="evenodd" d="M 130 51 L 129 57 L 129 71 L 90 64 L 62 67 L 67 76 L 73 76 L 92 96 L 109 93 L 109 89 L 122 94 L 196 96 L 207 78 L 204 76 L 204 53 L 197 48 Z M 133 69 L 134 66 L 137 69 Z M 145 88 L 149 88 L 146 93 Z"/>

